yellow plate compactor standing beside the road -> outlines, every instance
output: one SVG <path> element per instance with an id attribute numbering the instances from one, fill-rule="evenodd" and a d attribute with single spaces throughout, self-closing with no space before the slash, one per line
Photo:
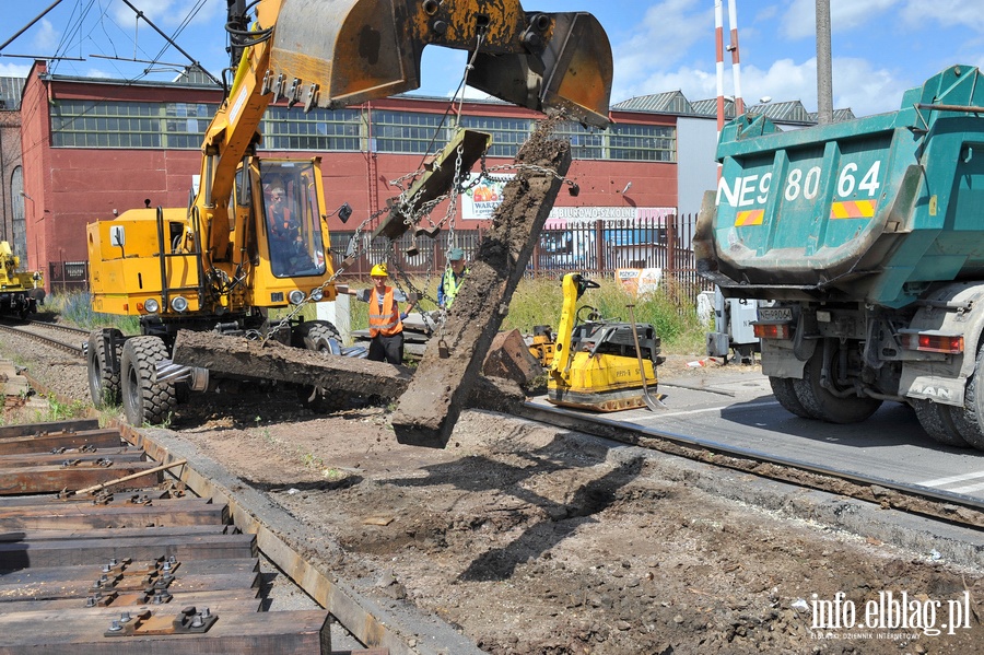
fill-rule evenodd
<path id="1" fill-rule="evenodd" d="M 660 340 L 655 328 L 649 324 L 636 325 L 634 315 L 632 320 L 623 323 L 601 318 L 590 305 L 578 307 L 577 301 L 584 292 L 597 288 L 597 282 L 579 273 L 564 276 L 557 341 L 552 349 L 543 349 L 542 343 L 530 348 L 534 354 L 552 350 L 547 371 L 547 400 L 562 407 L 602 412 L 642 407 L 661 409 L 655 394 L 656 366 L 665 358 L 659 354 Z"/>

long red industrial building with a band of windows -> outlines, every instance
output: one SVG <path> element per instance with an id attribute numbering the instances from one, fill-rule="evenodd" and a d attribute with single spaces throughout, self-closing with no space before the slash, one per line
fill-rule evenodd
<path id="1" fill-rule="evenodd" d="M 52 266 L 85 259 L 90 222 L 143 207 L 145 200 L 187 206 L 201 134 L 221 101 L 214 86 L 67 78 L 35 62 L 21 103 L 23 191 L 31 199 L 24 204 L 22 258 L 51 272 Z M 329 225 L 338 233 L 351 231 L 399 195 L 391 180 L 418 169 L 425 152 L 444 145 L 448 107 L 447 98 L 410 96 L 309 114 L 274 106 L 261 128 L 260 153 L 320 156 L 327 207 L 349 202 L 354 210 L 348 225 L 337 218 Z M 499 102 L 466 102 L 460 122 L 492 132 L 487 165 L 493 167 L 513 162 L 538 118 Z M 561 130 L 572 141 L 575 160 L 567 178 L 579 194 L 560 194 L 558 217 L 633 218 L 677 207 L 677 116 L 614 110 L 612 118 L 612 127 L 600 132 L 577 125 Z M 457 231 L 483 225 L 464 211 L 459 204 Z"/>

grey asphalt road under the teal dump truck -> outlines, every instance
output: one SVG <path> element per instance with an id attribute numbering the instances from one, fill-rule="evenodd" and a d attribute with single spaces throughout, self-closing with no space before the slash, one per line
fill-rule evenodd
<path id="1" fill-rule="evenodd" d="M 661 379 L 659 391 L 665 411 L 605 418 L 984 500 L 984 452 L 937 444 L 906 406 L 886 402 L 867 421 L 850 425 L 810 421 L 780 407 L 765 376 L 723 371 Z"/>

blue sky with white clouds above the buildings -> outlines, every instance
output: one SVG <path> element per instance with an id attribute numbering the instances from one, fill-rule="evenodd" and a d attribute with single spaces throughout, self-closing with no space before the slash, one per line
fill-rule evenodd
<path id="1" fill-rule="evenodd" d="M 130 0 L 167 34 L 199 8 L 176 40 L 218 74 L 225 55 L 225 0 Z M 27 24 L 50 0 L 4 2 L 0 43 Z M 727 0 L 725 33 L 729 21 Z M 746 104 L 769 96 L 799 100 L 817 109 L 816 0 L 737 0 L 741 91 Z M 523 0 L 526 11 L 590 11 L 608 32 L 614 56 L 612 102 L 680 90 L 691 101 L 716 95 L 714 0 L 605 2 Z M 81 20 L 80 20 L 81 17 Z M 831 0 L 834 107 L 858 116 L 899 107 L 902 92 L 953 63 L 984 66 L 984 11 L 968 0 Z M 62 0 L 2 55 L 55 54 L 54 72 L 150 80 L 172 79 L 173 68 L 145 74 L 147 65 L 93 55 L 186 63 L 122 0 Z M 733 94 L 730 56 L 725 56 L 725 94 Z M 30 59 L 0 57 L 0 75 L 24 75 Z M 448 95 L 462 74 L 464 52 L 424 50 L 417 93 Z M 478 92 L 475 92 L 478 95 Z"/>

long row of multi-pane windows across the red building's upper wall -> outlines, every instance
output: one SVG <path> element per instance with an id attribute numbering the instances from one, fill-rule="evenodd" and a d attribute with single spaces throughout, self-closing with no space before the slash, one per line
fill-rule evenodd
<path id="1" fill-rule="evenodd" d="M 57 101 L 51 107 L 56 148 L 167 148 L 198 150 L 218 105 Z M 274 151 L 433 154 L 452 138 L 452 117 L 419 112 L 372 112 L 372 133 L 360 109 L 269 107 L 259 129 L 261 148 Z M 531 118 L 462 116 L 461 127 L 492 134 L 489 155 L 513 159 L 535 127 Z M 676 162 L 677 136 L 671 126 L 612 125 L 607 130 L 567 121 L 555 130 L 571 141 L 577 160 Z"/>

